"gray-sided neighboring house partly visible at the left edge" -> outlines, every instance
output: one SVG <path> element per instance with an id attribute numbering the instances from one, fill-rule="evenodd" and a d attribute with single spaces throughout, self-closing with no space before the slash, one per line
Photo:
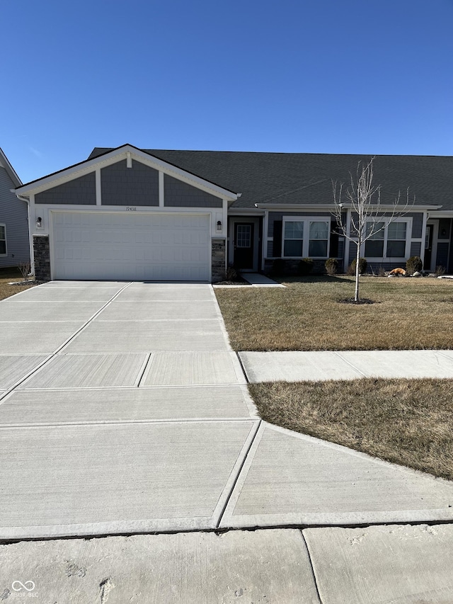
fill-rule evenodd
<path id="1" fill-rule="evenodd" d="M 11 191 L 21 179 L 0 149 L 0 268 L 30 261 L 28 203 Z"/>

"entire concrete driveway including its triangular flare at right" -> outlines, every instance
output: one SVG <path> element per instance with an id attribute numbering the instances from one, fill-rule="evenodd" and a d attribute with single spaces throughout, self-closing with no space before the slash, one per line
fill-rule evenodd
<path id="1" fill-rule="evenodd" d="M 453 485 L 260 422 L 205 284 L 0 302 L 0 540 L 451 520 Z"/>

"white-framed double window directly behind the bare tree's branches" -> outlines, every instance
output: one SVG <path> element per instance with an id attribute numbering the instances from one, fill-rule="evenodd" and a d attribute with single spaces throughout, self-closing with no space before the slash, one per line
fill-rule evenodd
<path id="1" fill-rule="evenodd" d="M 367 222 L 366 236 L 374 231 L 372 236 L 365 241 L 365 258 L 379 258 L 379 260 L 406 258 L 408 256 L 408 233 L 411 231 L 411 219 L 381 220 L 380 222 Z"/>

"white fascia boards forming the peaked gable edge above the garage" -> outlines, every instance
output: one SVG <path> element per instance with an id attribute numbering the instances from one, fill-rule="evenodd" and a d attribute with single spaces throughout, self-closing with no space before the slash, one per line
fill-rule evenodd
<path id="1" fill-rule="evenodd" d="M 76 164 L 75 166 L 71 166 L 57 173 L 40 178 L 38 181 L 33 181 L 32 183 L 18 187 L 16 188 L 15 193 L 19 193 L 21 195 L 29 195 L 30 193 L 33 193 L 36 195 L 36 193 L 40 193 L 43 190 L 59 186 L 63 183 L 73 180 L 74 178 L 79 178 L 80 176 L 84 176 L 84 174 L 93 172 L 96 170 L 96 168 L 103 168 L 105 166 L 109 166 L 110 164 L 115 164 L 121 159 L 127 159 L 127 154 L 130 154 L 132 159 L 137 159 L 137 161 L 140 161 L 142 164 L 146 164 L 151 168 L 162 171 L 169 176 L 174 176 L 175 178 L 178 178 L 178 180 L 205 190 L 207 193 L 215 195 L 216 197 L 227 199 L 229 201 L 236 201 L 238 198 L 236 193 L 232 193 L 231 191 L 214 185 L 209 181 L 205 181 L 203 178 L 195 176 L 190 172 L 177 168 L 176 166 L 167 164 L 166 161 L 162 161 L 154 155 L 144 153 L 140 149 L 132 147 L 128 144 L 124 145 L 123 147 L 119 147 L 118 149 L 113 149 L 113 151 L 105 153 L 101 156 L 93 157 L 93 159 L 87 159 L 86 161 L 81 162 L 81 164 Z"/>

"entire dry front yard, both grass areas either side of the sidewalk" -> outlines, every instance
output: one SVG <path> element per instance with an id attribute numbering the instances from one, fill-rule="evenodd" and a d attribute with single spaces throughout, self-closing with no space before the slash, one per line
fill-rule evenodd
<path id="1" fill-rule="evenodd" d="M 304 278 L 287 289 L 216 290 L 236 351 L 453 348 L 453 280 Z M 453 380 L 249 384 L 260 416 L 453 480 Z"/>

